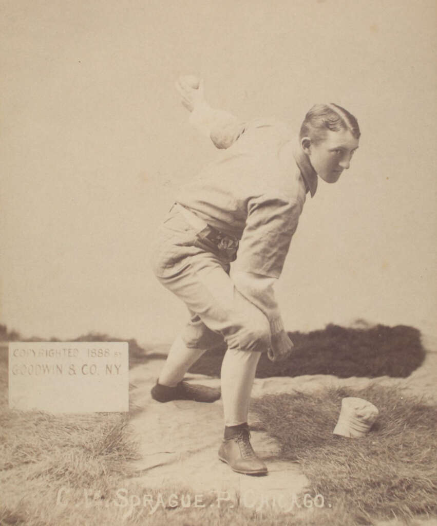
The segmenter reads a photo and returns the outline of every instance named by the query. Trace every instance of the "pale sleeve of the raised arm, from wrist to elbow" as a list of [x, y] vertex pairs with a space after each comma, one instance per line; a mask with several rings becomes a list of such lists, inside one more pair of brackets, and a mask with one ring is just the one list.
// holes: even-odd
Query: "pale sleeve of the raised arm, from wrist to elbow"
[[220, 149], [229, 148], [245, 130], [245, 123], [240, 122], [235, 115], [211, 108], [206, 102], [192, 110], [189, 123]]

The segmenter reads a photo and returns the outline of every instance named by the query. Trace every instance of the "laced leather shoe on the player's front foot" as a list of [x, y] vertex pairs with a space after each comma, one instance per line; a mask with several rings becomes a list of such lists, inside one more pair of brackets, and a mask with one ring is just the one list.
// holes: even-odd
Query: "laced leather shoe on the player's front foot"
[[237, 437], [223, 440], [218, 456], [219, 460], [229, 464], [237, 473], [245, 475], [267, 473], [266, 464], [253, 451], [249, 429], [241, 430]]

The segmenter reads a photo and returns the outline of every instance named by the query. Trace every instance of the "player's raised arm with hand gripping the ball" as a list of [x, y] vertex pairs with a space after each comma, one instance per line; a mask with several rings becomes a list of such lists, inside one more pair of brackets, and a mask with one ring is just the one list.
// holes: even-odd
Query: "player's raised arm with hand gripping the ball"
[[190, 112], [189, 123], [209, 137], [217, 148], [229, 148], [245, 130], [245, 123], [235, 115], [211, 108], [205, 99], [204, 81], [185, 75], [176, 81], [182, 105]]

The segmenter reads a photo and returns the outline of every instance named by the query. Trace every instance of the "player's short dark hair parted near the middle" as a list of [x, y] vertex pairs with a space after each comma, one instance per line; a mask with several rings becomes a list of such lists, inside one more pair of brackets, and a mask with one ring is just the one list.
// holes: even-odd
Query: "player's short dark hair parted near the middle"
[[299, 138], [309, 137], [313, 143], [320, 142], [326, 130], [349, 130], [358, 139], [361, 135], [358, 120], [347, 109], [337, 104], [316, 104], [305, 116]]

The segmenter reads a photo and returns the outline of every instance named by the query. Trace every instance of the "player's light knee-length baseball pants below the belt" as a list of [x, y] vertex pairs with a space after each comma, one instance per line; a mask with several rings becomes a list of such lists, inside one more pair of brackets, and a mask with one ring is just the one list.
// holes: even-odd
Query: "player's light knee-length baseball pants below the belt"
[[159, 281], [185, 302], [190, 312], [182, 339], [189, 348], [267, 352], [267, 317], [233, 284], [229, 258], [206, 247], [176, 207], [172, 207], [151, 245]]

